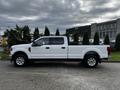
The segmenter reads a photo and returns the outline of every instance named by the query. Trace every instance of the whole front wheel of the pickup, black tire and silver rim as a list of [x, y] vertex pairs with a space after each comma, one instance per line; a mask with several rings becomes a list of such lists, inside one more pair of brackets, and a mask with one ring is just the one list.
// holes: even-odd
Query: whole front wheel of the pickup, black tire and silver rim
[[13, 61], [14, 61], [14, 65], [17, 67], [23, 67], [28, 64], [28, 58], [22, 54], [15, 55]]

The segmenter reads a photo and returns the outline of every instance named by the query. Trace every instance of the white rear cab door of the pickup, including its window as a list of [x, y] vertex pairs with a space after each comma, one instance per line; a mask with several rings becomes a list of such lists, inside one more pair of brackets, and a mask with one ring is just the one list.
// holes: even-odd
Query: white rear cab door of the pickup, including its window
[[50, 58], [66, 59], [67, 46], [64, 43], [63, 37], [49, 38], [49, 56]]

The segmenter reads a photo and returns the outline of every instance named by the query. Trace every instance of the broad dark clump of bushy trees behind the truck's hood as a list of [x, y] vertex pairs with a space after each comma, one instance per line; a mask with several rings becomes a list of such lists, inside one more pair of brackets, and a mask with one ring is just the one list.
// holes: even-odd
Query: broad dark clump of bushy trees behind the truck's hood
[[31, 42], [30, 29], [28, 26], [19, 27], [16, 25], [14, 29], [7, 29], [3, 36], [8, 38], [8, 47]]

